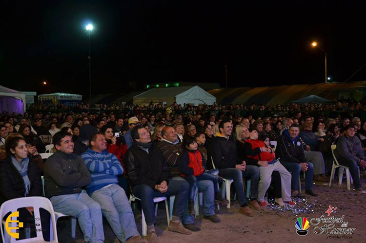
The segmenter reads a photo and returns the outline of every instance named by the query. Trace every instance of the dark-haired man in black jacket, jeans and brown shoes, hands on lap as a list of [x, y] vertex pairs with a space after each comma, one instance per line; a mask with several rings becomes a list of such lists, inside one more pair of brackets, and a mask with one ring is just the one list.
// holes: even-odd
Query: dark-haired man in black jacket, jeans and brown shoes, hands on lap
[[219, 132], [212, 144], [213, 162], [219, 169], [219, 176], [234, 180], [234, 187], [238, 195], [239, 211], [246, 216], [254, 216], [247, 206], [243, 187], [243, 178], [251, 180], [251, 200], [249, 203], [255, 210], [260, 210], [258, 199], [259, 169], [256, 166], [246, 166], [245, 161], [240, 161], [236, 151], [236, 144], [231, 136], [233, 124], [229, 118], [224, 118], [219, 124]]

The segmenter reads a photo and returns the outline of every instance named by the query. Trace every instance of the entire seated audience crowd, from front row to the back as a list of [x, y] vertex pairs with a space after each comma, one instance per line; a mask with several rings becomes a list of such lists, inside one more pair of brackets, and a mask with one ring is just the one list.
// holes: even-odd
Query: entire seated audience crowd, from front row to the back
[[[362, 103], [97, 108], [60, 111], [36, 104], [21, 116], [2, 113], [0, 203], [42, 196], [43, 175], [44, 196], [55, 211], [78, 219], [86, 242], [104, 241], [104, 216], [121, 242], [157, 243], [155, 197], [174, 196], [168, 229], [181, 234], [201, 230], [195, 223], [198, 191], [204, 219], [220, 222], [215, 206], [233, 203], [221, 193], [225, 179], [233, 180], [245, 216], [268, 206], [268, 190], [277, 205], [294, 206], [294, 197], [318, 195], [313, 181], [329, 182], [333, 144], [354, 190], [366, 194], [359, 177], [366, 167]], [[39, 154], [49, 144], [53, 155], [43, 161]], [[146, 240], [136, 228], [131, 193], [141, 200]], [[29, 218], [32, 210], [20, 214]]]

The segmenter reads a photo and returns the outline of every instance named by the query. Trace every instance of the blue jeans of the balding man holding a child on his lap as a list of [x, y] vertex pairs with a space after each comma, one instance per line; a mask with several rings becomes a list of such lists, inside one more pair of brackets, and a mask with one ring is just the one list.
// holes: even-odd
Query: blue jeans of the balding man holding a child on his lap
[[[173, 177], [172, 180], [184, 181], [183, 177]], [[215, 214], [215, 192], [212, 181], [202, 180], [197, 182], [198, 191], [203, 191], [203, 215], [211, 216]], [[174, 201], [175, 202], [175, 201]], [[193, 224], [194, 215], [188, 214], [188, 200], [185, 200], [183, 224]]]

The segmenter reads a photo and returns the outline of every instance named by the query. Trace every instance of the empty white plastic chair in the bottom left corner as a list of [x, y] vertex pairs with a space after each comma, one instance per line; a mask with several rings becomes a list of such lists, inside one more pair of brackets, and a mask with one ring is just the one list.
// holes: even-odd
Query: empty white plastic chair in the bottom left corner
[[[50, 242], [58, 242], [58, 238], [57, 238], [57, 229], [56, 229], [56, 219], [55, 219], [55, 214], [53, 211], [53, 206], [51, 201], [48, 198], [45, 197], [21, 197], [21, 198], [16, 198], [16, 199], [11, 199], [8, 200], [6, 202], [4, 202], [1, 207], [0, 207], [0, 217], [1, 220], [5, 217], [5, 215], [8, 212], [17, 212], [18, 208], [22, 208], [22, 207], [27, 207], [27, 206], [33, 206], [34, 208], [34, 218], [41, 218], [40, 215], [40, 208], [44, 208], [45, 210], [47, 210], [50, 215], [51, 215], [51, 230], [50, 230]], [[17, 226], [17, 222], [16, 220], [12, 220], [10, 225], [12, 228], [18, 228]], [[19, 240], [16, 241], [16, 239], [14, 237], [11, 237], [7, 232], [5, 234], [5, 232], [3, 231], [3, 227], [0, 226], [1, 228], [1, 238], [2, 238], [2, 242], [7, 243], [41, 243], [41, 242], [46, 242], [43, 239], [43, 234], [42, 234], [42, 225], [35, 225], [36, 227], [36, 233], [37, 233], [37, 237], [35, 238], [29, 238], [29, 239], [23, 239], [23, 240]], [[5, 225], [4, 225], [5, 228]], [[13, 233], [13, 232], [12, 232]], [[6, 240], [5, 240], [6, 239]]]

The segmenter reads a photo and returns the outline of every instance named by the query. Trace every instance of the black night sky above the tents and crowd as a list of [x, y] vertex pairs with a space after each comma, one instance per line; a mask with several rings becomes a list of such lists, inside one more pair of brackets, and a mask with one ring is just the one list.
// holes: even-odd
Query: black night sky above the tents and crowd
[[[310, 47], [312, 40], [328, 53], [334, 81], [366, 63], [365, 6], [250, 2], [3, 0], [1, 85], [87, 94], [88, 19], [95, 26], [93, 94], [128, 91], [128, 82], [224, 86], [225, 64], [229, 87], [321, 83], [324, 53]], [[366, 67], [349, 81], [359, 80]]]

